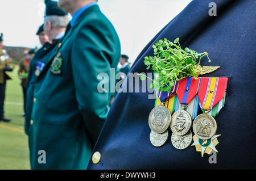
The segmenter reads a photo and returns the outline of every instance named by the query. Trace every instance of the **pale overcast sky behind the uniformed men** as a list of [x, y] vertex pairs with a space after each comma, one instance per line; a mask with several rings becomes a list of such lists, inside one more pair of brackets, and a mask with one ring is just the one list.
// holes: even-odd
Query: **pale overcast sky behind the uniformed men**
[[[101, 11], [113, 23], [122, 53], [133, 62], [144, 46], [191, 0], [99, 0]], [[43, 23], [43, 0], [1, 0], [0, 32], [5, 45], [39, 47], [35, 35]]]

